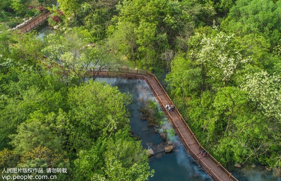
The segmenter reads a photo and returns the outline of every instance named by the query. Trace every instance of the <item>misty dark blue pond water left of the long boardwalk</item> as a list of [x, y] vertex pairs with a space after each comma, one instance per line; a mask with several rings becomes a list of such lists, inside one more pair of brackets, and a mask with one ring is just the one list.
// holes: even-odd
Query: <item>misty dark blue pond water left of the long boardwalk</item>
[[[142, 108], [143, 105], [139, 99], [157, 102], [145, 80], [123, 78], [98, 78], [98, 80], [110, 83], [112, 86], [117, 86], [120, 92], [132, 95], [133, 103], [129, 106], [129, 111], [131, 113], [131, 130], [136, 136], [141, 137], [144, 148], [147, 148], [147, 143], [154, 143], [156, 145], [163, 142], [158, 133], [151, 134], [149, 132], [146, 121], [140, 120], [141, 113], [138, 110]], [[160, 109], [160, 105], [158, 105], [158, 107]], [[165, 126], [171, 128], [168, 123]], [[174, 143], [178, 143], [179, 146], [177, 146], [172, 153], [165, 154], [162, 152], [160, 158], [156, 158], [155, 156], [150, 157], [150, 167], [155, 170], [154, 176], [149, 178], [150, 181], [212, 180], [186, 153], [177, 136], [170, 137], [170, 140]]]

